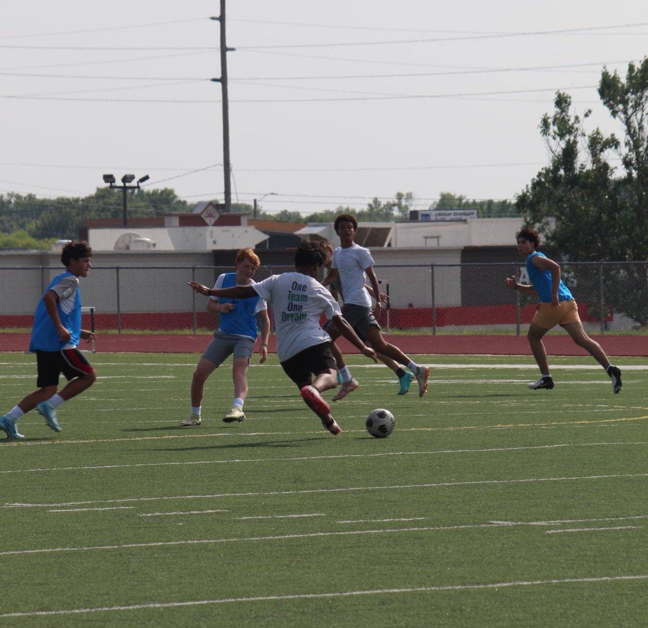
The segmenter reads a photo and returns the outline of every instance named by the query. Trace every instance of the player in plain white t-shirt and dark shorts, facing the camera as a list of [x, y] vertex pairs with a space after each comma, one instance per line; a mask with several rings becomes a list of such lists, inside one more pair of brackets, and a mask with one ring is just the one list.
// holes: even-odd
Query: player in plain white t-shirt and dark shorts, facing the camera
[[[340, 237], [341, 246], [333, 251], [331, 269], [322, 282], [323, 285], [328, 286], [338, 276], [340, 277], [344, 292], [345, 320], [354, 330], [359, 331], [378, 353], [408, 367], [419, 382], [419, 397], [422, 397], [428, 390], [430, 369], [426, 366], [418, 366], [398, 347], [386, 342], [380, 333], [380, 325], [371, 312], [371, 297], [365, 288], [365, 273], [369, 277], [374, 294], [380, 294], [380, 290], [378, 290], [378, 279], [373, 270], [373, 257], [371, 257], [369, 249], [365, 249], [364, 246], [353, 241], [358, 229], [358, 221], [351, 214], [340, 214], [335, 219], [334, 227], [335, 233]], [[378, 298], [375, 305], [376, 312], [379, 312], [381, 307], [382, 303]], [[339, 329], [330, 329], [329, 333], [334, 342], [336, 338], [340, 337]], [[344, 388], [345, 384], [342, 386]], [[343, 390], [340, 391], [340, 393], [342, 392]], [[340, 393], [336, 395], [338, 399], [343, 397]]]

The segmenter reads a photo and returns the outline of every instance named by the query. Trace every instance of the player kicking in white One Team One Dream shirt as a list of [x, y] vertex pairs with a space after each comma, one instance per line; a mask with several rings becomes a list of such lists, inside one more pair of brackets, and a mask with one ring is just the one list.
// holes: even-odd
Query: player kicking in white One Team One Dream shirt
[[[253, 286], [207, 288], [190, 281], [200, 294], [245, 299], [259, 296], [272, 304], [277, 330], [277, 357], [284, 372], [292, 379], [308, 407], [318, 415], [331, 434], [340, 434], [340, 426], [330, 414], [330, 406], [321, 393], [335, 388], [336, 364], [330, 353], [330, 336], [319, 325], [321, 314], [335, 321], [336, 329], [361, 353], [376, 362], [376, 353], [367, 347], [341, 315], [340, 306], [329, 290], [315, 277], [324, 261], [324, 253], [315, 242], [302, 242], [295, 253], [295, 272], [272, 275]], [[315, 380], [312, 380], [315, 375]]]

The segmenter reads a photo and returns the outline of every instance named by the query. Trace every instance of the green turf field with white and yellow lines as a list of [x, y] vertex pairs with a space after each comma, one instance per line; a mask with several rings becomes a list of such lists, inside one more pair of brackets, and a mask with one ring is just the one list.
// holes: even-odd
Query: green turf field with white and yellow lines
[[[590, 358], [529, 391], [529, 356], [419, 356], [419, 399], [351, 356], [334, 437], [275, 356], [244, 423], [228, 361], [181, 428], [197, 359], [93, 355], [60, 434], [32, 412], [0, 440], [0, 628], [645, 625], [648, 360], [615, 360], [614, 395]], [[2, 413], [35, 372], [0, 354]]]

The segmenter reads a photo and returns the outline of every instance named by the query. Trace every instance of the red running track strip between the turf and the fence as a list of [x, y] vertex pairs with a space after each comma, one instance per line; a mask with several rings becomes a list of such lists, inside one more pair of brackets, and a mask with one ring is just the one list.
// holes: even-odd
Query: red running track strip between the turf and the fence
[[[176, 334], [98, 334], [99, 353], [202, 353], [211, 335]], [[526, 336], [384, 336], [404, 353], [531, 355]], [[648, 336], [590, 336], [601, 344], [605, 353], [614, 356], [648, 356]], [[358, 353], [350, 343], [340, 338], [343, 353]], [[83, 344], [83, 343], [82, 343]], [[588, 355], [568, 336], [545, 336], [544, 344], [550, 355]], [[268, 350], [276, 351], [275, 336], [270, 336]], [[258, 346], [258, 345], [257, 345]], [[29, 334], [0, 333], [0, 351], [25, 351]], [[81, 347], [84, 348], [83, 346]]]

